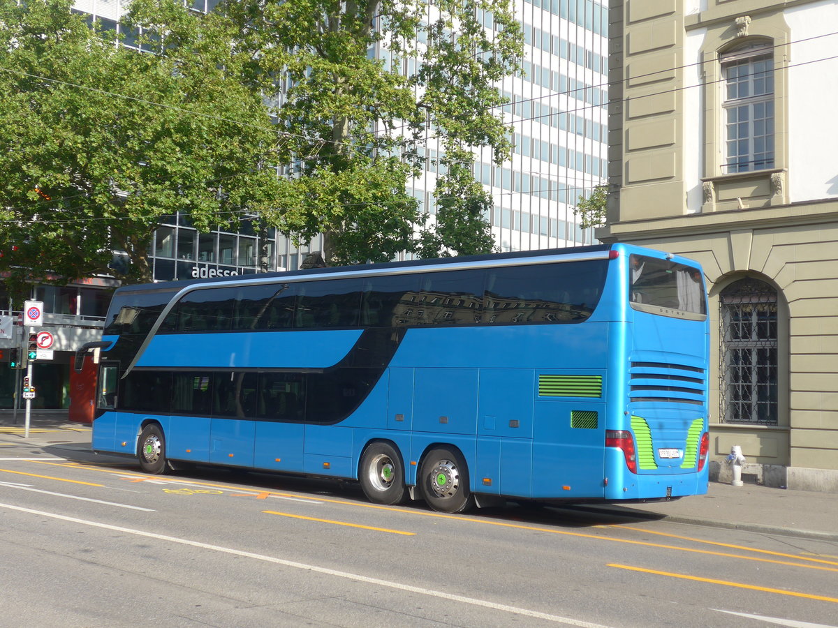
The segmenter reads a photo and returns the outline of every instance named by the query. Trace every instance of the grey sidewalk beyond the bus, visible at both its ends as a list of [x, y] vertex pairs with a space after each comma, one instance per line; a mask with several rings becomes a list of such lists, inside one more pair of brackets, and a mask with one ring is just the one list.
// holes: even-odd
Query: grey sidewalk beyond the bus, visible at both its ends
[[[0, 443], [89, 452], [91, 426], [67, 420], [66, 411], [39, 411], [30, 418], [24, 440], [23, 411], [13, 425], [13, 413], [0, 410]], [[755, 484], [731, 486], [711, 482], [706, 495], [673, 502], [584, 505], [580, 508], [613, 517], [650, 518], [712, 528], [735, 528], [767, 534], [838, 541], [838, 493], [793, 491]]]

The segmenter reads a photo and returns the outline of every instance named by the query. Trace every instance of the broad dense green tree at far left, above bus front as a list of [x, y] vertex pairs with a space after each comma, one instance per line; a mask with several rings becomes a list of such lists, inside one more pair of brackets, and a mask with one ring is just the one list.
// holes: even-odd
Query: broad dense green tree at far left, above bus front
[[[12, 290], [59, 275], [150, 281], [161, 217], [199, 229], [271, 219], [277, 127], [241, 82], [251, 59], [222, 15], [135, 0], [116, 45], [70, 0], [0, 0], [0, 271]], [[13, 246], [17, 247], [12, 253]], [[131, 261], [112, 268], [113, 252]]]

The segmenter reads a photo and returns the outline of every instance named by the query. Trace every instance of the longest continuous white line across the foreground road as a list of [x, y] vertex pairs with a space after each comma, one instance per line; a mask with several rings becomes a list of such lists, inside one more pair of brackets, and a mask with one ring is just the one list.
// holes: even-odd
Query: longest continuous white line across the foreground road
[[401, 584], [391, 580], [380, 580], [377, 578], [370, 578], [360, 574], [351, 574], [346, 571], [337, 571], [336, 569], [327, 569], [325, 567], [318, 567], [313, 564], [297, 563], [292, 560], [277, 559], [273, 556], [266, 556], [261, 553], [245, 552], [241, 549], [224, 548], [220, 545], [210, 545], [209, 543], [200, 543], [199, 541], [192, 541], [189, 538], [169, 537], [165, 534], [156, 534], [152, 532], [143, 532], [142, 530], [134, 530], [132, 528], [122, 528], [120, 526], [111, 526], [108, 523], [101, 523], [96, 521], [87, 521], [85, 519], [78, 519], [76, 517], [67, 517], [59, 515], [54, 512], [42, 512], [39, 510], [32, 510], [30, 508], [23, 508], [19, 506], [12, 506], [10, 504], [0, 503], [0, 507], [8, 508], [9, 510], [16, 510], [18, 512], [28, 512], [41, 517], [51, 517], [53, 519], [60, 519], [61, 521], [69, 521], [73, 523], [80, 523], [85, 526], [93, 526], [94, 528], [103, 528], [105, 530], [113, 530], [115, 532], [122, 532], [127, 534], [135, 534], [139, 537], [156, 538], [159, 541], [168, 541], [169, 543], [179, 543], [181, 545], [190, 545], [194, 548], [211, 549], [215, 552], [229, 553], [234, 556], [243, 556], [248, 559], [263, 560], [266, 563], [281, 564], [285, 567], [292, 567], [293, 569], [305, 569], [313, 571], [318, 574], [326, 574], [335, 576], [337, 578], [344, 578], [354, 580], [355, 582], [363, 582], [365, 584], [375, 584], [376, 586], [388, 587], [390, 589], [399, 589], [401, 591], [408, 591], [409, 593], [416, 593], [418, 595], [428, 595], [430, 597], [440, 598], [442, 600], [451, 600], [453, 602], [460, 602], [462, 604], [469, 604], [473, 606], [482, 606], [487, 609], [501, 610], [506, 613], [515, 615], [522, 615], [525, 617], [533, 617], [535, 619], [553, 621], [557, 624], [566, 624], [577, 626], [578, 628], [608, 628], [601, 624], [592, 624], [589, 621], [574, 620], [570, 617], [561, 617], [559, 615], [550, 615], [549, 613], [541, 613], [538, 610], [522, 609], [517, 606], [510, 606], [505, 604], [497, 604], [489, 602], [488, 600], [478, 600], [477, 598], [469, 598], [463, 595], [453, 595], [443, 591], [435, 591], [433, 589], [424, 589], [422, 587], [415, 587], [411, 584]]

